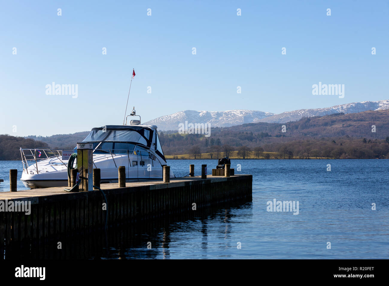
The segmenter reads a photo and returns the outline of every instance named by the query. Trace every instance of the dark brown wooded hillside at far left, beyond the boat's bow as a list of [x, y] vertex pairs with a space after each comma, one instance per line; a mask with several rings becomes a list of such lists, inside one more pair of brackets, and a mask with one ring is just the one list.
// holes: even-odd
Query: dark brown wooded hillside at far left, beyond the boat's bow
[[47, 148], [46, 143], [23, 137], [0, 135], [0, 160], [22, 160], [20, 148]]

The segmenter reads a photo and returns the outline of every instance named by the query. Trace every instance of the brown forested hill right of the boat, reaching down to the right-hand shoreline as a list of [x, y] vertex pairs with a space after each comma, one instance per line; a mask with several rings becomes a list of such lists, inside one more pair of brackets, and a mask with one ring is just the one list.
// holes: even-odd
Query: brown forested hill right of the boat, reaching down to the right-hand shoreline
[[[283, 129], [285, 132], [282, 132]], [[192, 154], [194, 150], [198, 153], [208, 153], [212, 149], [210, 147], [224, 145], [231, 151], [238, 151], [242, 147], [251, 150], [261, 147], [266, 152], [278, 152], [281, 147], [287, 146], [289, 151], [297, 155], [303, 153], [301, 147], [309, 142], [308, 149], [333, 151], [338, 148], [340, 153], [346, 143], [346, 146], [354, 148], [355, 152], [369, 154], [350, 155], [348, 158], [383, 158], [388, 153], [389, 110], [338, 113], [302, 118], [288, 123], [248, 123], [211, 128], [208, 138], [203, 134], [161, 132], [159, 139], [166, 155]], [[287, 142], [290, 144], [286, 144]], [[367, 144], [364, 144], [366, 142]], [[293, 147], [293, 144], [296, 146]]]

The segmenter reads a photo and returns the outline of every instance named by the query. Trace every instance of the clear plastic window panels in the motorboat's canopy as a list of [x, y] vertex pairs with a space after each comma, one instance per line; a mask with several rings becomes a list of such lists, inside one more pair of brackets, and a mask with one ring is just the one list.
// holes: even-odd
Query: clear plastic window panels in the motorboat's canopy
[[[148, 131], [148, 130], [147, 130]], [[96, 129], [92, 130], [89, 135], [82, 140], [83, 142], [91, 141], [124, 141], [124, 142], [138, 142], [147, 146], [147, 141], [140, 135], [139, 132], [134, 130], [104, 130]]]

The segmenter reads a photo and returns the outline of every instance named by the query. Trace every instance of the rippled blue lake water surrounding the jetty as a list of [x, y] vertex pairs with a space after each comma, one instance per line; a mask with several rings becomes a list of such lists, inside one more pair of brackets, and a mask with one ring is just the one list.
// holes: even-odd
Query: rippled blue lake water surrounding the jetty
[[[177, 177], [189, 173], [189, 164], [200, 175], [202, 164], [210, 173], [216, 163], [168, 160]], [[0, 161], [0, 191], [9, 190], [10, 168], [18, 168], [20, 178], [20, 161]], [[389, 160], [231, 160], [231, 168], [253, 175], [252, 201], [205, 216], [110, 230], [106, 245], [88, 249], [86, 257], [389, 258]], [[25, 189], [20, 181], [18, 189]], [[267, 211], [273, 199], [298, 201], [298, 215]]]

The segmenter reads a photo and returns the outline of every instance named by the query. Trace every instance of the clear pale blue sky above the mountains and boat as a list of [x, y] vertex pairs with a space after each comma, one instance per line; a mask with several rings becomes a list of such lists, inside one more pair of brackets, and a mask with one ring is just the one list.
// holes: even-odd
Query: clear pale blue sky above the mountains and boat
[[[0, 133], [121, 125], [132, 68], [128, 106], [143, 122], [388, 99], [388, 30], [388, 1], [2, 1]], [[312, 95], [319, 81], [345, 97]], [[46, 95], [51, 82], [78, 84], [78, 97]]]

